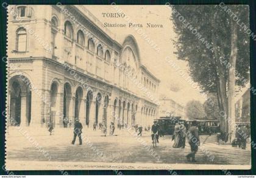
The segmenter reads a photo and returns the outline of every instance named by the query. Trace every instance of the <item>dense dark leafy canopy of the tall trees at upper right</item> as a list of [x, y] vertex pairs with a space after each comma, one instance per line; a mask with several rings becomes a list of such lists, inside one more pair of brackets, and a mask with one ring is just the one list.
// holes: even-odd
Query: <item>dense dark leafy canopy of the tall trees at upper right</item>
[[[227, 7], [239, 16], [240, 23], [244, 22], [249, 27], [247, 5]], [[180, 15], [177, 15], [177, 12]], [[183, 16], [185, 22], [180, 21], [180, 16]], [[178, 58], [188, 60], [191, 77], [200, 84], [202, 91], [216, 92], [216, 80], [219, 80], [216, 60], [219, 58], [217, 59], [218, 56], [213, 52], [213, 40], [216, 41], [221, 64], [225, 69], [223, 75], [227, 81], [233, 18], [219, 5], [172, 5], [172, 19], [178, 35], [175, 43]], [[185, 27], [187, 23], [196, 29], [196, 34], [191, 32], [190, 25]], [[249, 79], [249, 35], [241, 27], [238, 30], [238, 39], [239, 62], [236, 64], [236, 84], [244, 86]]]

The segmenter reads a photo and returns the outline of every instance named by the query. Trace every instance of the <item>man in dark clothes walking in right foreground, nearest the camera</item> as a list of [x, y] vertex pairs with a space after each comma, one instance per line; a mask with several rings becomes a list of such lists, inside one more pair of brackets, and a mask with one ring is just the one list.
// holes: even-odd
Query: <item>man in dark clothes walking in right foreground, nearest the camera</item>
[[192, 121], [190, 129], [188, 129], [188, 143], [190, 144], [191, 152], [187, 154], [187, 160], [189, 162], [196, 162], [196, 152], [198, 150], [198, 146], [200, 145], [199, 131], [196, 120]]

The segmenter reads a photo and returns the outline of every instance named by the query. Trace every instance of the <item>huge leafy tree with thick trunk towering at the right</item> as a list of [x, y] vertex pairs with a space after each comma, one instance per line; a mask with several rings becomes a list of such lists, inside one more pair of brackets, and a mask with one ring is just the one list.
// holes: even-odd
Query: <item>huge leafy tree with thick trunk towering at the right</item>
[[[249, 80], [249, 7], [246, 5], [172, 5], [177, 56], [188, 60], [190, 74], [202, 92], [215, 93], [221, 132], [233, 131], [234, 87]], [[227, 13], [240, 19], [243, 28]], [[182, 18], [181, 18], [182, 16]], [[239, 60], [239, 63], [237, 62]], [[234, 69], [234, 70], [233, 70]]]

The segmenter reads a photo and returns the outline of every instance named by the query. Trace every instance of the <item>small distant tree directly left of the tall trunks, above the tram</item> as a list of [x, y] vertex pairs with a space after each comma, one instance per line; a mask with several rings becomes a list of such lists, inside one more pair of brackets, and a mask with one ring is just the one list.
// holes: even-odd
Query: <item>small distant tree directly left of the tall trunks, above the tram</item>
[[219, 104], [215, 94], [209, 94], [208, 99], [204, 102], [203, 106], [207, 118], [219, 118]]

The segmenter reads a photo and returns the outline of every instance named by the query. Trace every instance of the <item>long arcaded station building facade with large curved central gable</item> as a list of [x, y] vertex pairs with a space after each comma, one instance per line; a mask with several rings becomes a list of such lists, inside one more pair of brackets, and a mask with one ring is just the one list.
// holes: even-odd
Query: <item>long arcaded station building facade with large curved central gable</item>
[[10, 125], [148, 126], [157, 117], [160, 80], [132, 35], [119, 43], [81, 5], [10, 5], [8, 23]]

